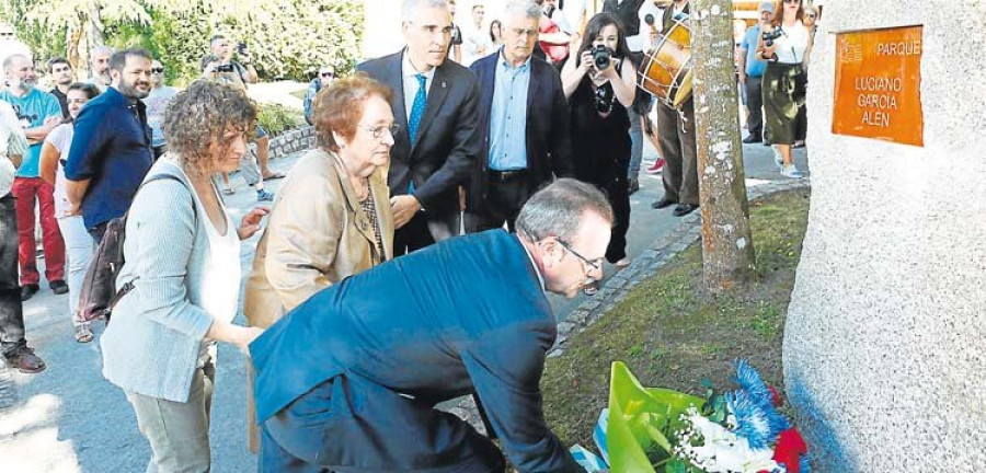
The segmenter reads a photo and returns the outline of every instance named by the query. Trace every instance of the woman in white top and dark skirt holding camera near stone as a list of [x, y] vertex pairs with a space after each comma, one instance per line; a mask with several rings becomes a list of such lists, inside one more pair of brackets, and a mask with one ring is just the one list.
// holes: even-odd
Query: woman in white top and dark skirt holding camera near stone
[[801, 0], [778, 2], [773, 21], [764, 27], [757, 43], [757, 58], [767, 61], [764, 72], [764, 122], [773, 146], [775, 161], [786, 177], [801, 177], [791, 157], [798, 135], [798, 111], [804, 104], [812, 37], [804, 27]]

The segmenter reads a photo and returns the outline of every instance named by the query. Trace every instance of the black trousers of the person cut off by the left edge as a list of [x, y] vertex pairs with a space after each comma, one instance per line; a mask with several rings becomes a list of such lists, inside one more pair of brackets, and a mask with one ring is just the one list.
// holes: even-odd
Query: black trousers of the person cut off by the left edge
[[7, 356], [26, 345], [18, 278], [18, 217], [14, 198], [7, 194], [0, 197], [0, 347]]

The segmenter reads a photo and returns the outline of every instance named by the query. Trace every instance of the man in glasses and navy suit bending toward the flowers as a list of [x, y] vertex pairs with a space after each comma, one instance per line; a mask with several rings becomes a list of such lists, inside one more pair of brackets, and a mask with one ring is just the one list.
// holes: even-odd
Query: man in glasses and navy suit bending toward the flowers
[[546, 291], [600, 278], [612, 210], [562, 178], [491, 230], [318, 292], [253, 344], [261, 472], [503, 472], [469, 424], [434, 406], [474, 394], [520, 472], [582, 472], [541, 412], [554, 344]]

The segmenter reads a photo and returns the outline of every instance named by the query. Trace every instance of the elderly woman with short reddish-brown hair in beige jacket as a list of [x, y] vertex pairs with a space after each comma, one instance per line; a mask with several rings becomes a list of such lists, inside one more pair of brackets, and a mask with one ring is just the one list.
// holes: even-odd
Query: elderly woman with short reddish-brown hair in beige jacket
[[[365, 74], [319, 92], [318, 147], [298, 160], [277, 195], [246, 282], [251, 326], [265, 328], [316, 292], [392, 257], [387, 170], [397, 125], [389, 100], [390, 90]], [[252, 395], [248, 409], [256, 451]]]

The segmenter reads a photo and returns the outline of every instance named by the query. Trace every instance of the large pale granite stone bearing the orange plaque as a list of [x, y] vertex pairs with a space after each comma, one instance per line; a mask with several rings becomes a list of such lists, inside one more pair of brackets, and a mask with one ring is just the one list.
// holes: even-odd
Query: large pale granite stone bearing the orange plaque
[[815, 471], [984, 471], [986, 1], [826, 7], [789, 400]]

